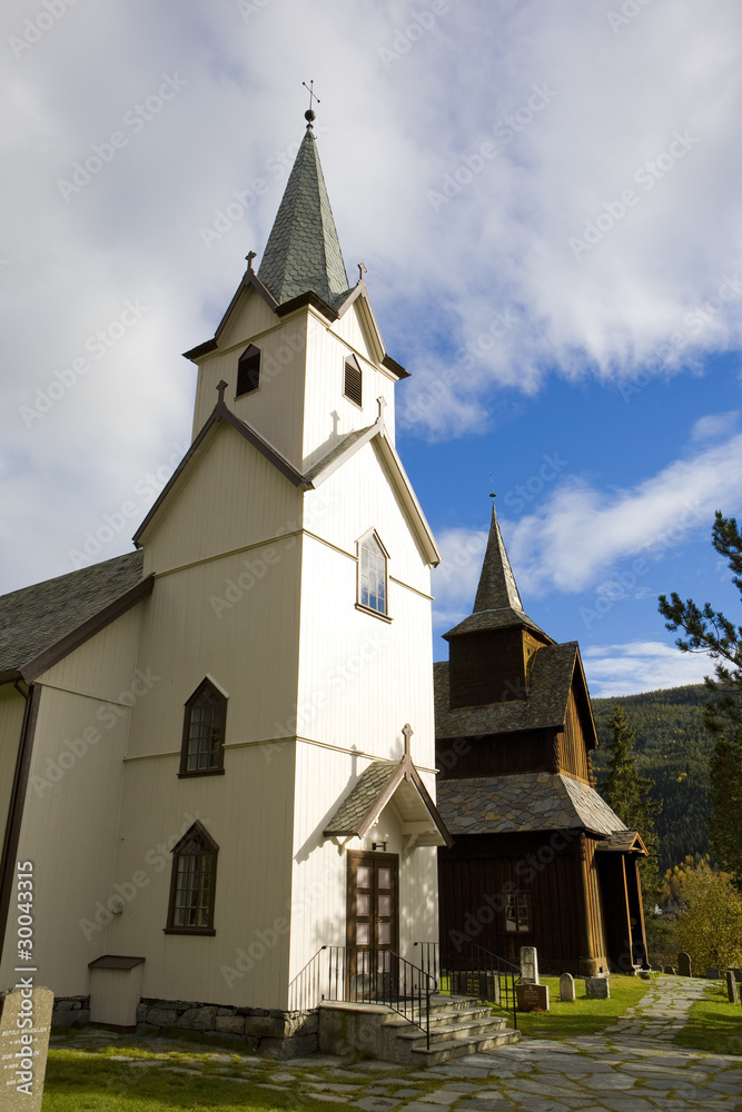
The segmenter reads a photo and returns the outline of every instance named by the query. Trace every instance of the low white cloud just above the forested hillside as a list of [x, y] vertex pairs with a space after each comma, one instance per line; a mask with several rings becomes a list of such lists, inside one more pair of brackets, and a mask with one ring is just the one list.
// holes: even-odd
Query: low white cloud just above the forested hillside
[[593, 645], [582, 653], [593, 698], [637, 695], [703, 683], [714, 662], [705, 654], [681, 653], [662, 642]]

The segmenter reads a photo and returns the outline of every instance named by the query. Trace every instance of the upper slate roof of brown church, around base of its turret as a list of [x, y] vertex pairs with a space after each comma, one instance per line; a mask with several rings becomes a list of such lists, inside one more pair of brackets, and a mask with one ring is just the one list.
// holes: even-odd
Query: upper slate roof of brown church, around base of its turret
[[482, 737], [518, 729], [562, 728], [577, 661], [577, 642], [536, 649], [528, 695], [524, 699], [451, 709], [448, 662], [433, 665], [435, 735]]

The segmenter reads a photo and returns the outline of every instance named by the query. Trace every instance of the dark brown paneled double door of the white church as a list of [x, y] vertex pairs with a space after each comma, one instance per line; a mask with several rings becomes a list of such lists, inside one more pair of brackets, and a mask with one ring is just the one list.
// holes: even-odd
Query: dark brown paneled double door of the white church
[[399, 862], [388, 853], [348, 853], [348, 993], [373, 1000], [394, 991], [399, 945]]

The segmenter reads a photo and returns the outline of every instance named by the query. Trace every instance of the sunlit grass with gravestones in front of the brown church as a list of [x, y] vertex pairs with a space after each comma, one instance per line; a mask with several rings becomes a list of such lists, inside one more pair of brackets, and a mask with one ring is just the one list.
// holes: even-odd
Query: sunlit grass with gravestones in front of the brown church
[[[518, 1031], [534, 1039], [574, 1039], [576, 1035], [594, 1035], [615, 1023], [627, 1007], [633, 1007], [650, 990], [651, 983], [639, 976], [611, 976], [610, 1000], [587, 1000], [585, 982], [575, 979], [576, 1000], [562, 1003], [560, 979], [542, 976], [541, 983], [548, 985], [547, 1012], [518, 1012]], [[495, 1015], [503, 1013], [497, 1009]], [[508, 1020], [513, 1026], [513, 1016]]]

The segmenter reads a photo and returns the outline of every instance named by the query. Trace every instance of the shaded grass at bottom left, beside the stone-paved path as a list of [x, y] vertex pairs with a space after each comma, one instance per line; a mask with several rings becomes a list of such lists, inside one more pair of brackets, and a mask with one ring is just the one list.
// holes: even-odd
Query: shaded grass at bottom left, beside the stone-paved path
[[[116, 1055], [152, 1064], [117, 1062]], [[156, 1062], [198, 1070], [202, 1075], [170, 1072], [154, 1064]], [[234, 1079], [217, 1074], [218, 1068], [230, 1071]], [[270, 1074], [281, 1069], [279, 1062], [264, 1060], [246, 1066], [240, 1064], [238, 1055], [235, 1055], [234, 1068], [225, 1063], [217, 1066], [201, 1048], [162, 1052], [142, 1049], [136, 1037], [90, 1050], [62, 1044], [49, 1049], [41, 1108], [42, 1112], [188, 1112], [200, 1109], [208, 1112], [276, 1112], [284, 1109], [337, 1112], [337, 1104], [306, 1096], [296, 1089], [278, 1092], [257, 1088], [257, 1082], [269, 1082]], [[243, 1080], [235, 1080], [238, 1076]]]

